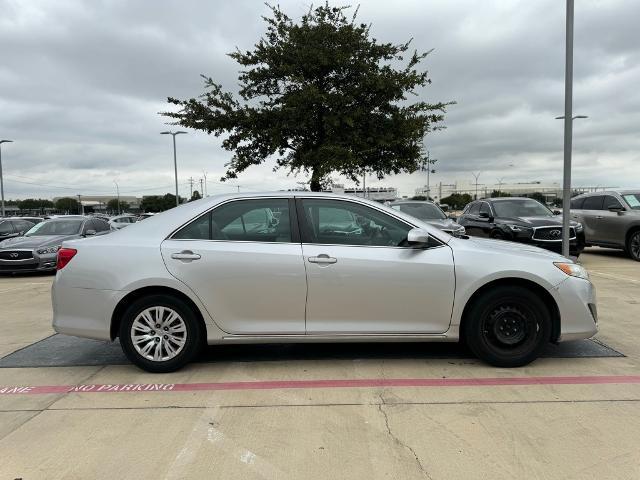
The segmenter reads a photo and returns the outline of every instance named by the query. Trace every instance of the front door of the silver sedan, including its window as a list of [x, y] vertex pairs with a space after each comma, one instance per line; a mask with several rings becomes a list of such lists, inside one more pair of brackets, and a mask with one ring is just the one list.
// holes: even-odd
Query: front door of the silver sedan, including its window
[[443, 333], [455, 290], [451, 249], [407, 245], [411, 225], [349, 200], [302, 198], [307, 334]]

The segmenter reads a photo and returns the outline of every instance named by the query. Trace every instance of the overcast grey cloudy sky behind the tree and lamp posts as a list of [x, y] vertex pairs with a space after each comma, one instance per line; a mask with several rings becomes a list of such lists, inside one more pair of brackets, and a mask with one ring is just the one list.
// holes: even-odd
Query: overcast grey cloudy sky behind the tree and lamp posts
[[[330, 2], [343, 5], [343, 2]], [[281, 1], [299, 18], [309, 2]], [[414, 38], [431, 101], [455, 100], [430, 134], [432, 182], [562, 182], [565, 11], [561, 0], [363, 0], [359, 19], [381, 41]], [[167, 96], [202, 93], [199, 74], [237, 88], [225, 54], [264, 31], [261, 1], [0, 0], [0, 138], [7, 198], [172, 191]], [[577, 0], [574, 54], [576, 186], [640, 186], [640, 2]], [[209, 193], [292, 188], [306, 178], [253, 167], [219, 178], [230, 153], [198, 132], [179, 136], [181, 194], [207, 171]], [[511, 166], [512, 165], [512, 166]], [[424, 175], [369, 185], [412, 194]], [[198, 188], [199, 189], [199, 188]]]

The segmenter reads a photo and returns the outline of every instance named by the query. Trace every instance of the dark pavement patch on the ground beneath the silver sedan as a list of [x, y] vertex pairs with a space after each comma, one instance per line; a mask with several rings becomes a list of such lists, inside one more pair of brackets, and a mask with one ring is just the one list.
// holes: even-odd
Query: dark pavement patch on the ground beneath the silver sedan
[[[598, 340], [549, 345], [547, 358], [624, 357]], [[472, 358], [456, 343], [308, 343], [276, 345], [218, 345], [208, 347], [198, 362], [268, 362], [323, 359], [435, 359]], [[0, 368], [75, 367], [129, 363], [120, 344], [66, 335], [52, 335], [0, 359]]]

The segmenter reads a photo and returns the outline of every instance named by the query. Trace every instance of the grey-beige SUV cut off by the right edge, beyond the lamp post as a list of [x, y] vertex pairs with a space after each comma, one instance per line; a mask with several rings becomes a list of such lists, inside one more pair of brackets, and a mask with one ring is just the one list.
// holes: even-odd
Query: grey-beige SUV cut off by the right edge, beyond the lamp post
[[571, 199], [587, 246], [619, 248], [640, 262], [640, 190], [585, 193]]

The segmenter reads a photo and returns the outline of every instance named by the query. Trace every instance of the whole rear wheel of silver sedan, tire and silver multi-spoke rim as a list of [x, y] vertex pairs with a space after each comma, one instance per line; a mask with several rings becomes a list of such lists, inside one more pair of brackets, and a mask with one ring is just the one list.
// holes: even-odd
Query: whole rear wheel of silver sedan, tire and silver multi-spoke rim
[[133, 302], [122, 316], [119, 336], [131, 363], [151, 373], [182, 368], [204, 345], [203, 327], [195, 312], [167, 295], [149, 295]]

